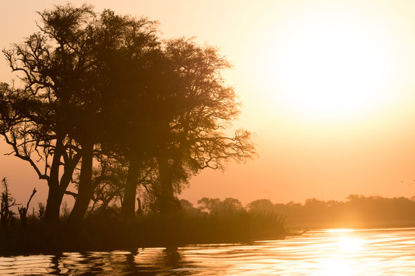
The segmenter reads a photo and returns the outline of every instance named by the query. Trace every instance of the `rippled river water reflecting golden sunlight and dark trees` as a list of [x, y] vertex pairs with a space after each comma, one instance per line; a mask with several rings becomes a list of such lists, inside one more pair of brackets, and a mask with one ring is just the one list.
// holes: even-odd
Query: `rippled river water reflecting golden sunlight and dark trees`
[[0, 275], [415, 275], [415, 228], [315, 230], [250, 244], [0, 257]]

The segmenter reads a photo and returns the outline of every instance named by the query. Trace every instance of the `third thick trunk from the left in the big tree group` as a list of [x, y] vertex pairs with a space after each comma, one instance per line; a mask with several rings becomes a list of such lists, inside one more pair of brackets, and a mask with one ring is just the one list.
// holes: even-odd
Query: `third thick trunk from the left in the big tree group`
[[132, 158], [128, 168], [127, 182], [121, 206], [122, 215], [125, 219], [131, 219], [135, 215], [139, 166], [140, 162], [136, 158]]

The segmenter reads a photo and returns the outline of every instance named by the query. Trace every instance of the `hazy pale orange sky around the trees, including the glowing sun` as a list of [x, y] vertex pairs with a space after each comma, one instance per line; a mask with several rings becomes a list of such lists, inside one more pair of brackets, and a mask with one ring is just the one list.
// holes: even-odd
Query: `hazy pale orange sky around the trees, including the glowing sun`
[[[59, 3], [2, 1], [0, 48], [23, 41], [35, 12]], [[256, 132], [259, 157], [201, 172], [181, 197], [415, 195], [414, 1], [86, 3], [158, 20], [163, 37], [195, 36], [234, 65], [225, 72], [243, 102], [234, 128]], [[0, 61], [0, 81], [12, 77]], [[0, 156], [3, 176], [18, 201], [34, 186], [46, 200], [46, 182], [26, 162]]]

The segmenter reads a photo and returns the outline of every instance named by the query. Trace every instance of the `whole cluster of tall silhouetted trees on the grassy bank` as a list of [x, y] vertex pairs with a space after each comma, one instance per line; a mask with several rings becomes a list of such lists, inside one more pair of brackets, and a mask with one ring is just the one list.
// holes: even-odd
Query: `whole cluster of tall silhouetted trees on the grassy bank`
[[38, 32], [3, 50], [21, 81], [0, 84], [0, 134], [47, 182], [44, 221], [59, 220], [64, 195], [75, 198], [71, 224], [91, 201], [120, 201], [133, 217], [138, 188], [173, 213], [193, 175], [255, 153], [250, 132], [227, 130], [239, 102], [216, 48], [86, 5], [39, 16]]

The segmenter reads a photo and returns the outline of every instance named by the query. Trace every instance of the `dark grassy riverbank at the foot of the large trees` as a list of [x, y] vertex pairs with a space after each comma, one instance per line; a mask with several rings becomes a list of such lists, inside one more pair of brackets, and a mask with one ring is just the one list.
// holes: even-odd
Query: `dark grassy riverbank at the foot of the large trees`
[[65, 222], [43, 224], [31, 219], [0, 228], [0, 253], [56, 253], [74, 251], [131, 250], [185, 244], [219, 244], [282, 239], [290, 235], [284, 217], [275, 214], [234, 213], [169, 217], [143, 215], [130, 221], [103, 214], [74, 228]]

